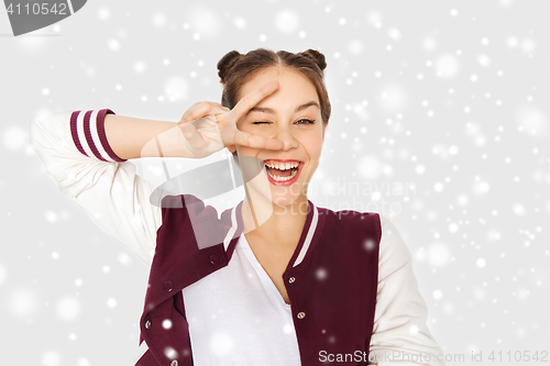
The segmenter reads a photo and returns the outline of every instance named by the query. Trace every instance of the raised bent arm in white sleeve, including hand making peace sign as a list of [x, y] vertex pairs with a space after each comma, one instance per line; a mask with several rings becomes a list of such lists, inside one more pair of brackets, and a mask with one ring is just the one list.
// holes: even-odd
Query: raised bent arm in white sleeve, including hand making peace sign
[[[33, 118], [31, 142], [62, 192], [107, 233], [151, 263], [166, 192], [135, 173], [138, 157], [206, 157], [226, 146], [280, 149], [282, 141], [237, 129], [249, 109], [278, 88], [270, 81], [232, 110], [195, 103], [177, 123], [114, 115], [111, 110]], [[153, 192], [157, 193], [152, 197]]]

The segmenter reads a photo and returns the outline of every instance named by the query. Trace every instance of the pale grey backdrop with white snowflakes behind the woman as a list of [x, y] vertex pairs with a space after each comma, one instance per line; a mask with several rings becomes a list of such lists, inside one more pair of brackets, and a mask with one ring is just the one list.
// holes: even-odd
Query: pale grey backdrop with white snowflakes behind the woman
[[[309, 198], [393, 218], [430, 330], [465, 357], [448, 364], [547, 364], [514, 357], [550, 351], [548, 8], [95, 0], [20, 37], [0, 11], [0, 364], [131, 365], [148, 275], [45, 174], [31, 118], [110, 108], [178, 121], [194, 102], [220, 100], [227, 52], [262, 46], [327, 56], [333, 112]], [[133, 162], [165, 180], [158, 162]], [[223, 196], [211, 204], [243, 190]]]

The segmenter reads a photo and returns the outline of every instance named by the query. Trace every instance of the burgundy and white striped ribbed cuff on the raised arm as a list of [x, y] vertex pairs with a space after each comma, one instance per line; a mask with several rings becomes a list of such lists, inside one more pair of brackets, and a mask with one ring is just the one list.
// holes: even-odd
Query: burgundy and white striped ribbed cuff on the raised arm
[[70, 115], [70, 134], [76, 148], [88, 157], [103, 162], [125, 162], [114, 154], [105, 133], [105, 118], [110, 109], [75, 111]]

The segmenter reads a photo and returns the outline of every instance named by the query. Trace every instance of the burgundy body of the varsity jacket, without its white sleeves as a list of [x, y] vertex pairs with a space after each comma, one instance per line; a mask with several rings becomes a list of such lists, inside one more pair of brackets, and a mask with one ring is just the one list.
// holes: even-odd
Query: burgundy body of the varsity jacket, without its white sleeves
[[[242, 203], [219, 217], [193, 195], [163, 198], [140, 322], [140, 343], [145, 341], [148, 350], [136, 366], [194, 365], [182, 289], [228, 265], [243, 230]], [[308, 232], [312, 237], [306, 237]], [[328, 364], [320, 362], [321, 351], [361, 352], [364, 361], [339, 364], [369, 364], [381, 237], [377, 213], [332, 211], [308, 200], [298, 246], [283, 274], [301, 365]], [[306, 241], [306, 255], [294, 265]], [[319, 269], [326, 276], [318, 276]], [[172, 326], [163, 326], [165, 320]]]

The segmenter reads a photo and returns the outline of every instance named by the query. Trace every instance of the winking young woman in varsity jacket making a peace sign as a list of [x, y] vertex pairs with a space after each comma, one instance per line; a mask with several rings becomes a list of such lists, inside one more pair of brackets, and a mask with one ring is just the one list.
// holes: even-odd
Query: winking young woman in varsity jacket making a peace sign
[[[331, 111], [326, 66], [314, 49], [232, 51], [218, 63], [221, 104], [177, 123], [108, 109], [33, 119], [62, 191], [151, 264], [136, 365], [444, 365], [392, 222], [307, 198]], [[221, 214], [157, 195], [128, 162], [222, 148], [245, 197]]]

